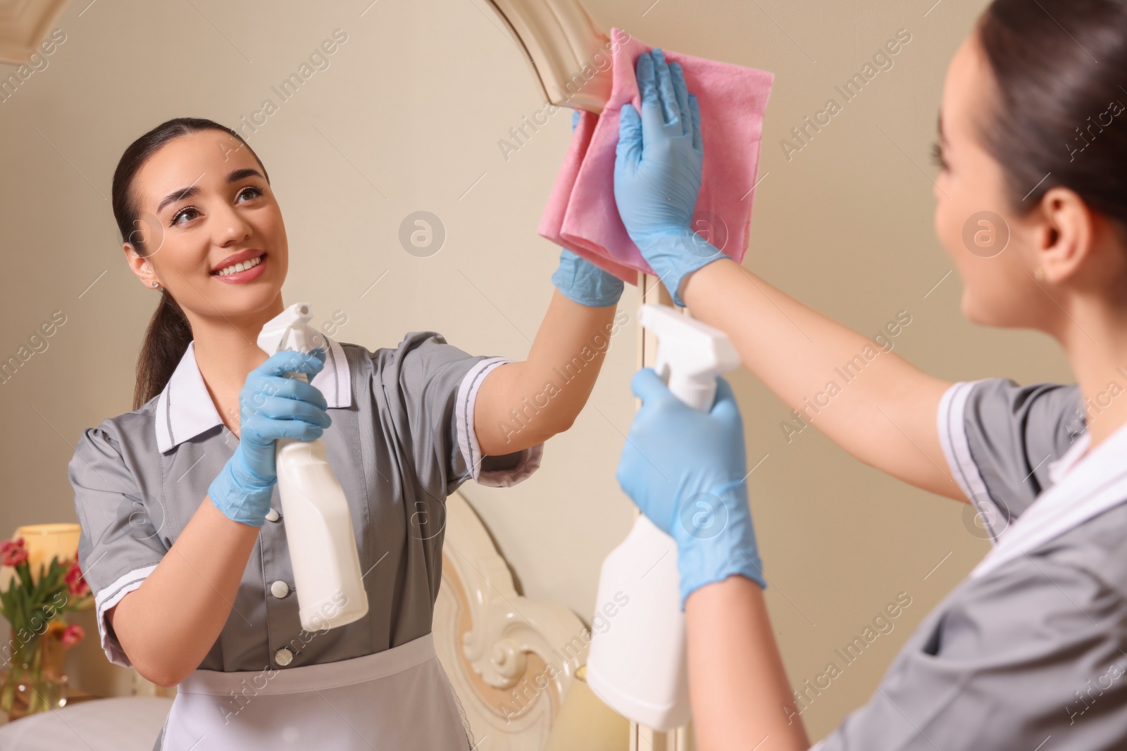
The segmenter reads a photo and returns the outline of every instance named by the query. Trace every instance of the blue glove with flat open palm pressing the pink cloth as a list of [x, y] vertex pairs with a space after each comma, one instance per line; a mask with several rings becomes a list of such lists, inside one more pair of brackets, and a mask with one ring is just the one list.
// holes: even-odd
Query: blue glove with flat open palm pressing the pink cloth
[[641, 116], [622, 105], [614, 159], [614, 202], [627, 233], [677, 305], [681, 283], [724, 258], [692, 230], [704, 144], [701, 110], [678, 63], [659, 48], [638, 55]]

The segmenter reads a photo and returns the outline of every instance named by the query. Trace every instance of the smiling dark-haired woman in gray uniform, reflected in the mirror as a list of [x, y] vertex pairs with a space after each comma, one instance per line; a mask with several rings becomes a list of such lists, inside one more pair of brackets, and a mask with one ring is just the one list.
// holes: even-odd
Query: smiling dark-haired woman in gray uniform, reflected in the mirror
[[[622, 283], [565, 251], [523, 363], [433, 332], [267, 358], [256, 340], [285, 306], [289, 247], [266, 168], [234, 131], [157, 126], [125, 150], [113, 207], [159, 303], [135, 409], [83, 431], [70, 477], [107, 656], [179, 685], [156, 748], [469, 749], [431, 637], [445, 499], [539, 466], [591, 393]], [[369, 613], [309, 633], [274, 441], [317, 437], [352, 510]]]

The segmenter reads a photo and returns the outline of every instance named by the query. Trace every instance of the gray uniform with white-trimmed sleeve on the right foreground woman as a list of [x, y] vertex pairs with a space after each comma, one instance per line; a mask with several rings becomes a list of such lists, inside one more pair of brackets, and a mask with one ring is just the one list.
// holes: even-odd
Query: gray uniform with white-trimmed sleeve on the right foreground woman
[[1075, 385], [1001, 378], [938, 420], [995, 546], [815, 749], [1127, 748], [1127, 428], [1085, 456]]

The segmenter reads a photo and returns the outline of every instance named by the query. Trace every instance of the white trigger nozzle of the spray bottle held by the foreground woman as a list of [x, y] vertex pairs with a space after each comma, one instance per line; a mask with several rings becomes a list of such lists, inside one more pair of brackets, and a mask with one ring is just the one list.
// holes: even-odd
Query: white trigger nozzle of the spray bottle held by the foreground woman
[[660, 342], [654, 369], [673, 395], [701, 412], [712, 409], [716, 377], [739, 365], [728, 336], [667, 305], [642, 305], [638, 321]]

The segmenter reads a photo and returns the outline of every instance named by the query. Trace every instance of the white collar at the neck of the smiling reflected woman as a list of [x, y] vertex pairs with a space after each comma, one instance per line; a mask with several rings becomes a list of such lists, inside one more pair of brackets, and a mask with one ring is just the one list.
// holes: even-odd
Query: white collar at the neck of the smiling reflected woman
[[[352, 406], [352, 374], [345, 350], [336, 340], [325, 339], [329, 343], [328, 359], [321, 372], [313, 376], [312, 384], [325, 394], [329, 406]], [[195, 342], [189, 341], [188, 349], [157, 401], [157, 447], [163, 454], [222, 422], [199, 375]]]

